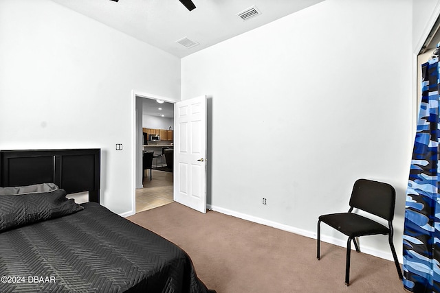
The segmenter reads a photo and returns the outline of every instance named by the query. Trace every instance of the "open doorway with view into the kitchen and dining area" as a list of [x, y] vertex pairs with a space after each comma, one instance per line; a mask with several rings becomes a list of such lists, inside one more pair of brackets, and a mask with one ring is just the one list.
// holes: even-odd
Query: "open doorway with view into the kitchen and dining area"
[[174, 104], [149, 95], [136, 95], [135, 109], [134, 211], [139, 213], [173, 202]]

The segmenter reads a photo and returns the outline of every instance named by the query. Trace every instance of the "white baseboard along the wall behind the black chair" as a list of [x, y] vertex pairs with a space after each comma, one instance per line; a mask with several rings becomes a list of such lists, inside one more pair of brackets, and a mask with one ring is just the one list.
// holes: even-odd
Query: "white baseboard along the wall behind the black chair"
[[[216, 207], [213, 206], [211, 204], [207, 204], [208, 209], [212, 210], [212, 211], [218, 211], [219, 213], [224, 213], [225, 215], [232, 215], [233, 217], [236, 218], [240, 218], [243, 220], [248, 220], [250, 222], [254, 222], [257, 224], [263, 224], [265, 226], [270, 226], [270, 227], [274, 227], [274, 228], [278, 228], [280, 230], [283, 231], [287, 231], [287, 232], [291, 232], [291, 233], [295, 233], [301, 236], [305, 236], [305, 237], [309, 237], [309, 238], [313, 238], [316, 239], [316, 231], [307, 231], [304, 229], [300, 229], [300, 228], [296, 228], [294, 226], [289, 226], [289, 225], [285, 225], [285, 224], [281, 224], [278, 222], [274, 222], [274, 221], [270, 221], [270, 220], [266, 220], [263, 218], [259, 218], [259, 217], [255, 217], [253, 215], [247, 215], [245, 213], [239, 213], [237, 211], [232, 211], [230, 209], [223, 209], [222, 207]], [[318, 219], [316, 220], [316, 223], [318, 223]], [[362, 240], [362, 239], [361, 239]], [[386, 242], [388, 242], [388, 239], [384, 239]], [[322, 242], [327, 242], [329, 244], [333, 244], [333, 245], [337, 245], [337, 246], [342, 246], [342, 247], [347, 247], [347, 240], [342, 240], [342, 239], [337, 239], [335, 237], [331, 237], [331, 236], [327, 236], [327, 235], [322, 235], [321, 234], [321, 241]], [[352, 245], [352, 249], [354, 249], [353, 247], [354, 245]], [[371, 248], [368, 246], [362, 246], [361, 248], [362, 253], [366, 253], [368, 255], [373, 255], [375, 257], [380, 257], [381, 259], [387, 259], [388, 261], [394, 261], [393, 259], [393, 254], [391, 253], [391, 251], [384, 252], [382, 250], [377, 250], [375, 248]], [[403, 263], [403, 257], [401, 255], [397, 255], [397, 259], [399, 259], [399, 263]]]

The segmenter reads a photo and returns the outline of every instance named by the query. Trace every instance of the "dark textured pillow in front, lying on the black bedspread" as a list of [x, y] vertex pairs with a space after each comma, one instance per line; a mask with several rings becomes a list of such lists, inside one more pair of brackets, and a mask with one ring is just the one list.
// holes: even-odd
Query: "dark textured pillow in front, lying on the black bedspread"
[[66, 198], [64, 189], [36, 194], [0, 196], [0, 232], [58, 218], [84, 209]]

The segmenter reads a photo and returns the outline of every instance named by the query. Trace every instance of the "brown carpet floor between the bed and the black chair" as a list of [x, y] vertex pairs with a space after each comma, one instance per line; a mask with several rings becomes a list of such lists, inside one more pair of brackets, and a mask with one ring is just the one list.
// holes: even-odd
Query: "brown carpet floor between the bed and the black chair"
[[353, 250], [347, 287], [345, 248], [322, 242], [318, 261], [315, 239], [215, 211], [173, 202], [128, 219], [183, 248], [199, 279], [217, 293], [407, 292], [392, 261]]

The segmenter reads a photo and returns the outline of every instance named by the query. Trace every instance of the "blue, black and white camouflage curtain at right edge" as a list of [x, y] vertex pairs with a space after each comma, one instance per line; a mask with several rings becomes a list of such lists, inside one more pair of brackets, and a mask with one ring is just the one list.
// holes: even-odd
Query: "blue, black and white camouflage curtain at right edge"
[[404, 226], [404, 287], [440, 292], [439, 61], [422, 65], [422, 97]]

